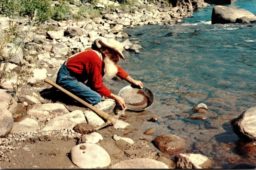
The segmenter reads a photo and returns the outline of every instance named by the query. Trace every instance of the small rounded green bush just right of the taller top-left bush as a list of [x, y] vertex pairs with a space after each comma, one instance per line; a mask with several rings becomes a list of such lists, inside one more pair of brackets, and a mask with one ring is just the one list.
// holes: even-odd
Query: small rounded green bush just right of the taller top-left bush
[[70, 14], [70, 9], [68, 7], [68, 5], [66, 4], [55, 4], [54, 8], [53, 8], [53, 15], [52, 15], [52, 19], [54, 20], [63, 20], [66, 19], [67, 16]]

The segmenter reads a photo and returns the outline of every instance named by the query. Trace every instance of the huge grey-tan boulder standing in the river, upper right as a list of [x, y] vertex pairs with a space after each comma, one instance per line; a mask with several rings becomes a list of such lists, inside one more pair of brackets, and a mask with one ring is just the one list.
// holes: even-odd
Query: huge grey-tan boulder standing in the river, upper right
[[244, 9], [217, 5], [212, 9], [212, 24], [255, 22], [256, 16]]

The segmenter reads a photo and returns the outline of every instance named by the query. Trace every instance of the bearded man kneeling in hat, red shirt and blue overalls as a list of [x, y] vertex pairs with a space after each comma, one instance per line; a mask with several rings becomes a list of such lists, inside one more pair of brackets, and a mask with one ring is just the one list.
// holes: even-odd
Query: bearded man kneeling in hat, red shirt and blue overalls
[[124, 47], [120, 42], [114, 39], [96, 39], [93, 45], [92, 49], [76, 53], [64, 62], [56, 83], [87, 103], [97, 104], [102, 97], [109, 97], [124, 109], [124, 99], [113, 94], [103, 84], [102, 77], [113, 78], [117, 75], [138, 88], [143, 88], [143, 84], [116, 65], [119, 58], [125, 60], [122, 53]]

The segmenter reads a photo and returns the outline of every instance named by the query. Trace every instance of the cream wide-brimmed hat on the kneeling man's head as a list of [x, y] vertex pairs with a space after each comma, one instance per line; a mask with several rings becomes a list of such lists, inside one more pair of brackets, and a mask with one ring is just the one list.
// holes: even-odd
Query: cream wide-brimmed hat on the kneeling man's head
[[116, 41], [115, 39], [95, 39], [94, 44], [98, 48], [105, 46], [116, 51], [120, 55], [120, 57], [124, 59], [124, 61], [126, 61], [124, 58], [124, 54], [122, 53], [122, 51], [124, 50], [124, 45]]

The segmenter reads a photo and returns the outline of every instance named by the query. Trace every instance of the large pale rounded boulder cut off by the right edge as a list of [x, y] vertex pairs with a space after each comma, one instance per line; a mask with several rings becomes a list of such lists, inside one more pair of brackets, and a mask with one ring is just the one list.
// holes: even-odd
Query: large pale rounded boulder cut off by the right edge
[[240, 138], [256, 139], [256, 107], [244, 111], [231, 122], [234, 132]]

